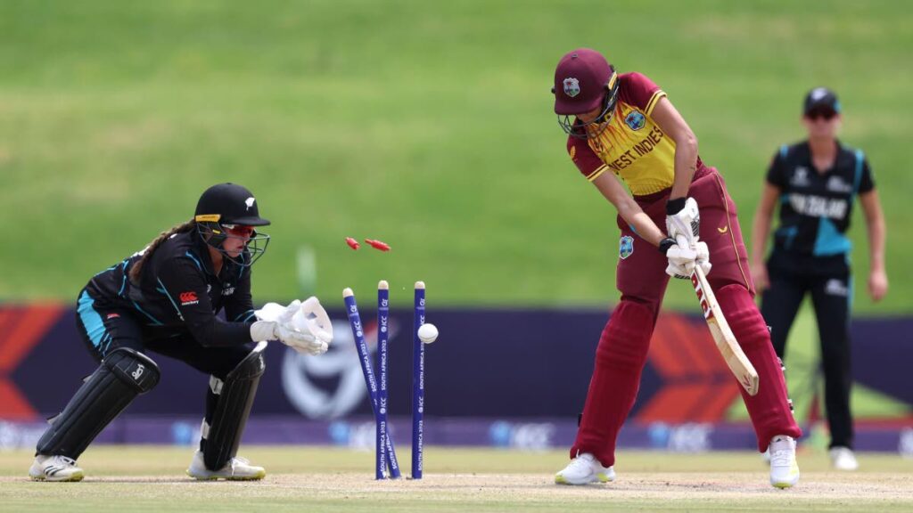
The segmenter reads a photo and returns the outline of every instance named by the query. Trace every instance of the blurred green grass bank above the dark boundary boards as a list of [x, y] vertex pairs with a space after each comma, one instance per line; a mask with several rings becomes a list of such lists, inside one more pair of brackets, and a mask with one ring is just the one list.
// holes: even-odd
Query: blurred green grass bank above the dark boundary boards
[[[836, 89], [891, 234], [882, 310], [857, 211], [856, 309], [908, 312], [911, 25], [887, 0], [4, 2], [0, 299], [74, 298], [234, 181], [274, 222], [260, 300], [302, 293], [310, 246], [325, 302], [382, 277], [424, 279], [435, 304], [614, 301], [614, 209], [568, 160], [549, 94], [561, 54], [589, 46], [666, 89], [746, 231], [804, 92]], [[693, 309], [687, 287], [666, 306]]]

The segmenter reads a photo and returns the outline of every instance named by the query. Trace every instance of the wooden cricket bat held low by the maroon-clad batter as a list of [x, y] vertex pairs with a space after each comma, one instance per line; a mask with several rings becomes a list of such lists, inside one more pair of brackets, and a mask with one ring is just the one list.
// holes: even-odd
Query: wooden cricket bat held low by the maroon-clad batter
[[691, 285], [698, 294], [700, 308], [704, 310], [704, 319], [707, 319], [710, 334], [713, 335], [713, 340], [717, 343], [717, 349], [723, 355], [723, 360], [729, 365], [729, 370], [735, 374], [736, 379], [749, 395], [757, 394], [758, 372], [754, 370], [754, 366], [742, 352], [732, 330], [729, 330], [729, 322], [723, 317], [717, 297], [713, 294], [707, 281], [707, 275], [700, 266], [695, 266], [694, 272], [691, 273]]

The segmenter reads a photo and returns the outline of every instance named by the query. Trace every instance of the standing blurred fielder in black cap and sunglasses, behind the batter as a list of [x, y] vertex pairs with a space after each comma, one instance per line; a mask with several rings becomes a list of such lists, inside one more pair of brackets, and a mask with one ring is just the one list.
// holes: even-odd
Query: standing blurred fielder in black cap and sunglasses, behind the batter
[[[834, 92], [812, 89], [803, 105], [808, 139], [783, 145], [767, 172], [751, 233], [751, 276], [763, 292], [761, 313], [771, 325], [773, 349], [780, 358], [792, 320], [805, 294], [811, 293], [821, 335], [830, 455], [835, 468], [855, 470], [848, 332], [853, 287], [845, 233], [858, 195], [868, 227], [868, 293], [877, 301], [887, 293], [885, 219], [866, 156], [836, 139], [840, 121]], [[777, 204], [780, 226], [765, 265]]]

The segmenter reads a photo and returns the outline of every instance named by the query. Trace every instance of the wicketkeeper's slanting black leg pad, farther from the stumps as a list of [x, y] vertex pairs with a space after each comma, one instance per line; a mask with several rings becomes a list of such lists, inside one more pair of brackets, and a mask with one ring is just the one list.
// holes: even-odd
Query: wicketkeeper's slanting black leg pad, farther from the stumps
[[111, 351], [51, 421], [38, 440], [37, 454], [79, 458], [137, 395], [158, 382], [159, 367], [148, 356], [128, 348]]

